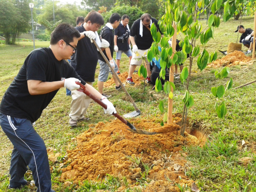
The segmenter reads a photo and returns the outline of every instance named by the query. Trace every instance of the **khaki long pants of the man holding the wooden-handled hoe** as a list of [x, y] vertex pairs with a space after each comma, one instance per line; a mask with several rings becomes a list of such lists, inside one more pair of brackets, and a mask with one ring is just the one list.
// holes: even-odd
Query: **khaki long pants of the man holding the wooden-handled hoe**
[[[89, 85], [93, 85], [94, 82], [86, 82]], [[84, 94], [83, 92], [74, 90], [71, 92], [72, 102], [70, 105], [69, 117], [73, 120], [79, 120], [84, 118], [84, 114], [91, 102], [91, 98]]]

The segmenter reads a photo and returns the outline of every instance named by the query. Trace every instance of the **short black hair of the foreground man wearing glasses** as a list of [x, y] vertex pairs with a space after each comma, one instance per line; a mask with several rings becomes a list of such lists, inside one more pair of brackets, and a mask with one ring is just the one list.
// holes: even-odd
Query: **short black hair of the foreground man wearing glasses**
[[78, 30], [76, 30], [70, 24], [61, 23], [51, 33], [50, 44], [55, 45], [59, 40], [64, 40], [65, 42], [70, 43], [74, 41], [74, 37], [80, 37]]

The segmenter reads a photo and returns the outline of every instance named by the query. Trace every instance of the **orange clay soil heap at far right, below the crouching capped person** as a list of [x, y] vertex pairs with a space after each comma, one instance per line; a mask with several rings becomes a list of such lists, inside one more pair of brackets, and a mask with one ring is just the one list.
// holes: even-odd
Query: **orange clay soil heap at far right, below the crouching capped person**
[[208, 64], [210, 67], [221, 67], [221, 66], [232, 66], [232, 65], [243, 65], [249, 62], [252, 58], [245, 56], [242, 51], [234, 51], [221, 59], [217, 59], [213, 63]]

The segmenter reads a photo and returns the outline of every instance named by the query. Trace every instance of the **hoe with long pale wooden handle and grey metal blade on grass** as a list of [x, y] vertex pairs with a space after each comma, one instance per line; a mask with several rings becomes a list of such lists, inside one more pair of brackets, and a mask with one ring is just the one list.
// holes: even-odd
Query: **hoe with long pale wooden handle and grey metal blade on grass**
[[119, 84], [121, 85], [121, 87], [123, 88], [124, 92], [126, 93], [126, 95], [128, 96], [128, 98], [130, 99], [130, 102], [132, 102], [132, 105], [134, 106], [136, 111], [130, 112], [128, 114], [125, 114], [124, 117], [125, 118], [131, 118], [131, 117], [136, 117], [138, 115], [140, 115], [140, 110], [138, 109], [138, 107], [136, 106], [134, 100], [132, 99], [132, 97], [130, 96], [130, 94], [128, 93], [128, 91], [126, 90], [126, 88], [124, 87], [123, 83], [121, 82], [121, 80], [118, 78], [118, 75], [116, 74], [116, 72], [114, 71], [114, 69], [111, 67], [108, 59], [106, 58], [106, 56], [104, 55], [104, 53], [102, 52], [102, 50], [100, 49], [100, 47], [98, 46], [98, 44], [96, 43], [96, 41], [94, 39], [92, 39], [92, 42], [94, 43], [94, 45], [97, 47], [97, 49], [99, 50], [100, 54], [102, 55], [102, 57], [104, 58], [104, 60], [106, 61], [106, 63], [108, 64], [110, 70], [112, 71], [113, 75], [116, 77], [116, 79], [118, 80]]

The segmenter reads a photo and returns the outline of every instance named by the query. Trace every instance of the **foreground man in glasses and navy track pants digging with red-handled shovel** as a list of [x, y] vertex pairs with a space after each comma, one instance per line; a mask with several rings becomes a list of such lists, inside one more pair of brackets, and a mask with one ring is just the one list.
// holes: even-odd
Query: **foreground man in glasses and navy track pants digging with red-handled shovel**
[[70, 59], [76, 50], [79, 32], [68, 24], [58, 25], [51, 34], [50, 47], [33, 50], [6, 90], [0, 104], [0, 125], [14, 145], [10, 165], [9, 188], [27, 184], [24, 179], [27, 166], [38, 192], [54, 192], [51, 189], [51, 174], [47, 150], [42, 138], [33, 127], [58, 90], [79, 89], [77, 81], [106, 103], [107, 113], [115, 108], [106, 97], [86, 84], [65, 59]]

